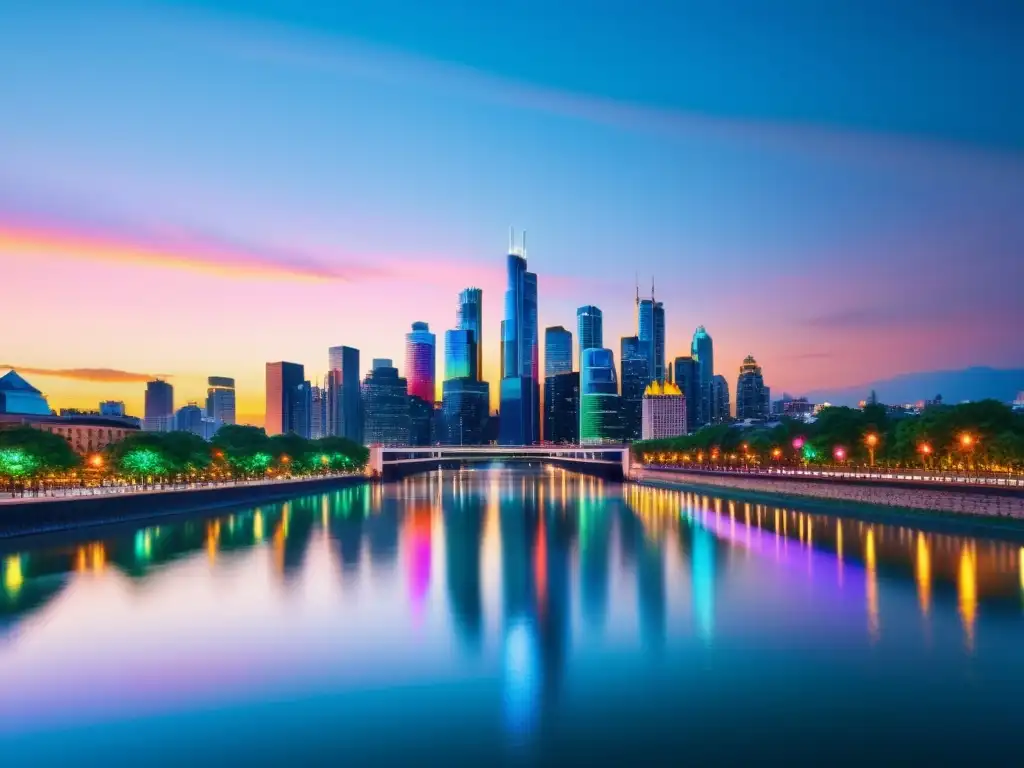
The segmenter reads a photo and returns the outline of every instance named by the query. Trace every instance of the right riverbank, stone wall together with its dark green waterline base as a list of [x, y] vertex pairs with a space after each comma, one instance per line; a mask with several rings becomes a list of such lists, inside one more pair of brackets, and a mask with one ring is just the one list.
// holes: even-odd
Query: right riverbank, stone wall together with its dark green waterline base
[[726, 493], [750, 501], [778, 504], [785, 500], [804, 506], [814, 503], [833, 511], [844, 506], [869, 506], [919, 518], [931, 513], [946, 519], [1001, 522], [1017, 530], [1024, 529], [1024, 493], [1009, 488], [936, 488], [905, 483], [653, 470], [634, 470], [633, 479], [641, 484]]

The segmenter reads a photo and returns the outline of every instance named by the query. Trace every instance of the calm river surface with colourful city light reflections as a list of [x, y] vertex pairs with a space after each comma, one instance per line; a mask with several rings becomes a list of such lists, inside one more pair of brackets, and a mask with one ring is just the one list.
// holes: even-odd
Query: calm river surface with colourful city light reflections
[[1021, 542], [496, 468], [4, 546], [12, 765], [1020, 743]]

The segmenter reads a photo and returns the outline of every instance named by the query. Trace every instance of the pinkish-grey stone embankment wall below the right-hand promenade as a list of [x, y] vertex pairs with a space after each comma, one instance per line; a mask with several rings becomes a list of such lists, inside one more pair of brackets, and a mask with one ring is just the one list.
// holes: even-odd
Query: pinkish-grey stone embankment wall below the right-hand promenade
[[651, 470], [634, 470], [633, 479], [640, 482], [644, 480], [670, 482], [687, 487], [729, 488], [753, 494], [1024, 520], [1024, 494], [1010, 488], [979, 486], [936, 488], [929, 487], [925, 483], [874, 484], [765, 475]]

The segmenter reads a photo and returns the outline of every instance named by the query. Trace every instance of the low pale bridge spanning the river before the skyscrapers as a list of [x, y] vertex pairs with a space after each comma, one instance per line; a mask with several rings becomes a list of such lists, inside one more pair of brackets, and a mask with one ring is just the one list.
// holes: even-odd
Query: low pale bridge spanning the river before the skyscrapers
[[487, 462], [553, 464], [622, 480], [630, 476], [628, 445], [370, 446], [370, 471], [385, 480], [404, 474]]

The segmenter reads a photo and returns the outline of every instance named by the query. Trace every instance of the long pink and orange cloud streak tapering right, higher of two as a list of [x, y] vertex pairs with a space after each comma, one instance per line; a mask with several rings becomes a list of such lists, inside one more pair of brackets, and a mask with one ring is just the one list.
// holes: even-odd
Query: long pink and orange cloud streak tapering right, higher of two
[[0, 255], [65, 256], [262, 280], [349, 281], [381, 271], [371, 267], [317, 263], [266, 249], [239, 248], [216, 239], [187, 233], [122, 236], [3, 221], [0, 221]]

